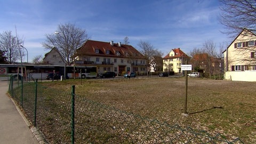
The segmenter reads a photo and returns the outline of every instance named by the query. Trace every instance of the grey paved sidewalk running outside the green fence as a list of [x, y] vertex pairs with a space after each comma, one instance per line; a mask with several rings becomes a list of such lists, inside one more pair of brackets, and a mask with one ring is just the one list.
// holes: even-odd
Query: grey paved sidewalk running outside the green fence
[[39, 143], [12, 100], [7, 81], [0, 81], [0, 143]]

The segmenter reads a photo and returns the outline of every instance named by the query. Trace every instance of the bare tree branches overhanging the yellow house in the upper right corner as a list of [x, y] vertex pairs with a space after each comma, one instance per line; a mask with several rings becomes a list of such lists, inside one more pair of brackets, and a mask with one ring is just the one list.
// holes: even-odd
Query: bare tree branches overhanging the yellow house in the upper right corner
[[226, 33], [231, 37], [237, 35], [244, 28], [256, 32], [256, 1], [255, 0], [219, 0], [219, 21], [226, 27]]

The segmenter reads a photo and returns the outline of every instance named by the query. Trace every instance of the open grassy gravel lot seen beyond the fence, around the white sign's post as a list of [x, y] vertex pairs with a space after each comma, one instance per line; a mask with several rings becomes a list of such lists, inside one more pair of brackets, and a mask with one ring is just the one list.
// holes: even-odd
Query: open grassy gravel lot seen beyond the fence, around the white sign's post
[[76, 94], [151, 119], [256, 142], [256, 82], [188, 78], [188, 117], [183, 117], [185, 78], [69, 79], [47, 82]]

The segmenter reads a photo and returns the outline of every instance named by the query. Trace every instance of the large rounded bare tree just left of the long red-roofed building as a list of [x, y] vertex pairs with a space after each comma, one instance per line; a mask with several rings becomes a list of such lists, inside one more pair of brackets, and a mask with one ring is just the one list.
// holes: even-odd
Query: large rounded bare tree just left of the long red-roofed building
[[75, 61], [74, 55], [77, 48], [89, 39], [85, 30], [70, 23], [60, 24], [55, 33], [46, 34], [45, 36], [46, 40], [42, 43], [43, 46], [46, 49], [53, 49], [55, 47], [67, 65], [71, 65]]

